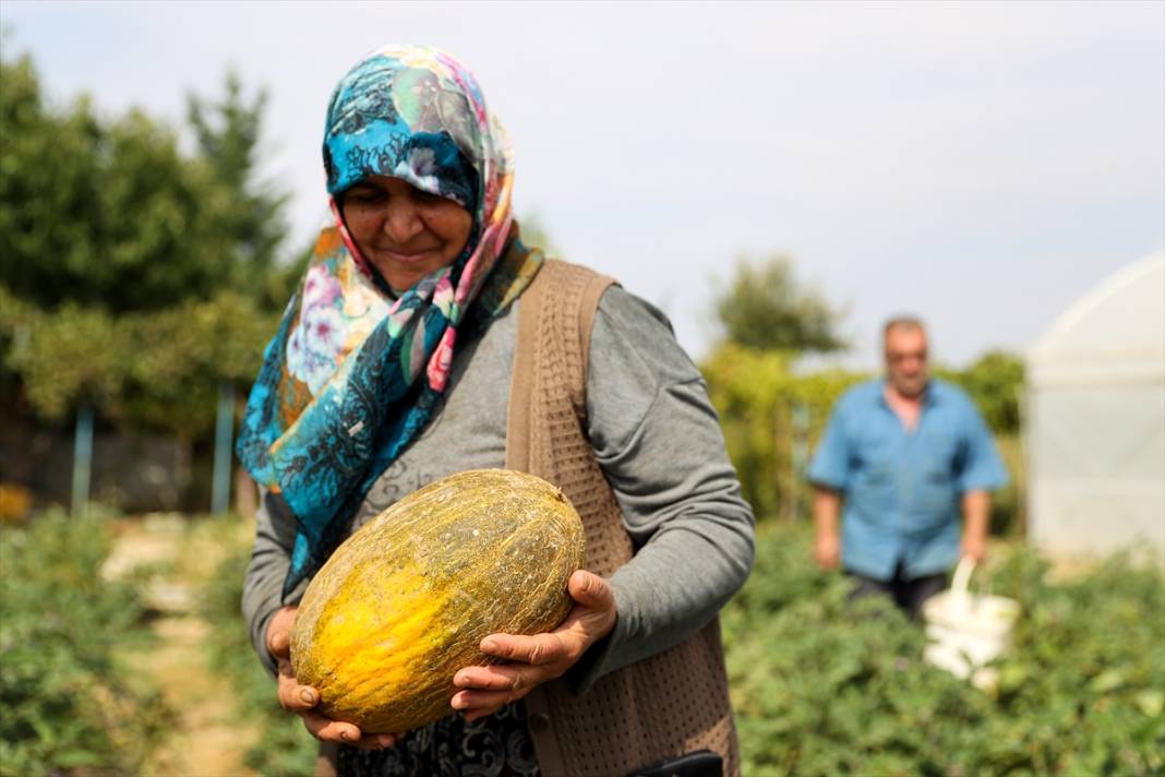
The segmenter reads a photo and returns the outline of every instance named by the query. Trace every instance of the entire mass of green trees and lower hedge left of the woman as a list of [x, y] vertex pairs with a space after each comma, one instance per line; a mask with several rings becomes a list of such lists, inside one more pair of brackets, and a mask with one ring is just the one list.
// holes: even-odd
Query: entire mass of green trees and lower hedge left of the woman
[[198, 153], [140, 112], [45, 104], [0, 61], [0, 382], [42, 419], [191, 439], [224, 381], [249, 382], [299, 266], [275, 261], [285, 196], [255, 183], [266, 94], [233, 76], [189, 98]]

